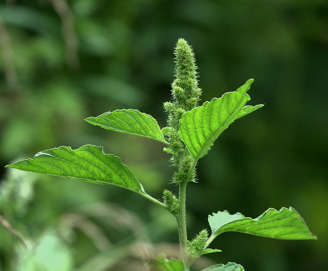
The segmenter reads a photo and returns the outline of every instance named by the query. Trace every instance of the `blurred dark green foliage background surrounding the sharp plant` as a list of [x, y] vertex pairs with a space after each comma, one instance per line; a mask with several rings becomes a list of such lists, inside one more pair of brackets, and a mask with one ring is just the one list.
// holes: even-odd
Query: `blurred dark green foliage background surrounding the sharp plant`
[[[187, 187], [188, 236], [227, 209], [256, 218], [293, 206], [317, 241], [225, 233], [200, 270], [328, 265], [328, 2], [326, 0], [7, 0], [0, 5], [0, 270], [146, 270], [178, 257], [173, 217], [124, 189], [5, 169], [61, 145], [104, 146], [161, 198], [173, 168], [163, 145], [85, 119], [135, 108], [166, 126], [173, 48], [193, 46], [202, 102], [255, 78], [255, 113], [234, 122]], [[6, 219], [6, 221], [4, 220]], [[10, 228], [9, 228], [10, 229]], [[326, 255], [326, 256], [324, 256]]]

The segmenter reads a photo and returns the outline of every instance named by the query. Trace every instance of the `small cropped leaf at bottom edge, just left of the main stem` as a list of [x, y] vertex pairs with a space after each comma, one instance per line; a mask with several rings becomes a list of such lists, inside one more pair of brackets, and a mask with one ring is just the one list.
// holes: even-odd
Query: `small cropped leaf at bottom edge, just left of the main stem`
[[165, 254], [159, 254], [153, 261], [146, 263], [149, 269], [156, 271], [184, 271], [183, 262], [181, 259], [170, 258], [166, 259]]

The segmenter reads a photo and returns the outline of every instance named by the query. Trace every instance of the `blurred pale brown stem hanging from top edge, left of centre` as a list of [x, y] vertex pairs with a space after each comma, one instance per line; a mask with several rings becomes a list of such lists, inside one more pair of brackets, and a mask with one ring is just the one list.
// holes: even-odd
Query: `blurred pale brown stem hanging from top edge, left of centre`
[[80, 61], [78, 57], [78, 38], [74, 31], [73, 13], [65, 0], [51, 0], [51, 2], [62, 20], [67, 65], [70, 69], [76, 70], [80, 66]]

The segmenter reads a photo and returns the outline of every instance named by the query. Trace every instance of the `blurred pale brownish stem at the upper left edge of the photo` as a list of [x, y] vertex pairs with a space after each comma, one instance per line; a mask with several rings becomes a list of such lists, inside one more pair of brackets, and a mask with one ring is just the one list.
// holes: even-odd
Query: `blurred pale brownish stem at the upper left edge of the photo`
[[17, 73], [15, 69], [14, 54], [11, 48], [10, 36], [0, 14], [0, 47], [5, 64], [6, 81], [10, 89], [16, 89], [18, 84]]

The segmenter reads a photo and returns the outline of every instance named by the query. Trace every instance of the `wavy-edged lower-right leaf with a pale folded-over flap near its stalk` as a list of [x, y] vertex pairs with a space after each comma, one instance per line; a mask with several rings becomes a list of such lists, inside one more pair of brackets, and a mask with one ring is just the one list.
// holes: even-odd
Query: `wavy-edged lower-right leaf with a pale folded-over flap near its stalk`
[[256, 219], [245, 218], [242, 214], [230, 215], [228, 211], [213, 213], [208, 216], [212, 229], [209, 244], [223, 232], [235, 231], [277, 239], [317, 239], [306, 226], [304, 220], [294, 208], [282, 207], [278, 212], [270, 208]]

